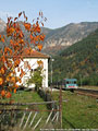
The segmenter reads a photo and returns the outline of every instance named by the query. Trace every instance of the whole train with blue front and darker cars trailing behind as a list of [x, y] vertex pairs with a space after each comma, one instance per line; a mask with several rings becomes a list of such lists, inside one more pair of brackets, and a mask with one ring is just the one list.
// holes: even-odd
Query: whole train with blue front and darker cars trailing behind
[[63, 90], [70, 90], [71, 92], [74, 92], [74, 90], [78, 87], [77, 79], [63, 79], [62, 81], [57, 82], [53, 86], [58, 88], [62, 86]]

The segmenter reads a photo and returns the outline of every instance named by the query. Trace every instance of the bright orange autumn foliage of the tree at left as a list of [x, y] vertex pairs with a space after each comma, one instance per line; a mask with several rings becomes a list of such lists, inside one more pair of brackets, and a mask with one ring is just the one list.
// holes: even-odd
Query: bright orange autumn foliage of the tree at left
[[[24, 21], [20, 21], [22, 15]], [[39, 16], [33, 20], [33, 23], [27, 21], [24, 11], [19, 13], [17, 17], [8, 17], [7, 35], [0, 35], [0, 41], [3, 47], [0, 50], [0, 97], [10, 98], [11, 92], [16, 93], [19, 87], [16, 83], [21, 83], [21, 79], [25, 74], [25, 71], [19, 67], [20, 62], [23, 61], [22, 53], [24, 49], [28, 48], [27, 53], [33, 48], [41, 50], [41, 41], [44, 41], [45, 35], [40, 32], [40, 24], [44, 26], [44, 21], [46, 21], [46, 17], [44, 17], [42, 12], [39, 12]], [[7, 44], [9, 45], [5, 46]], [[19, 78], [15, 74], [15, 68], [21, 71]], [[29, 69], [30, 67], [28, 66]]]

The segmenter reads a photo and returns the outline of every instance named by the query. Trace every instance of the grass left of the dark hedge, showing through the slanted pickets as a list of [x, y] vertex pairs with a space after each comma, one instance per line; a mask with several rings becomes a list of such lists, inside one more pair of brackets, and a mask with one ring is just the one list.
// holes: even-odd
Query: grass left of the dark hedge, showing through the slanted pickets
[[[33, 91], [30, 91], [30, 92], [20, 91], [20, 92], [17, 92], [16, 94], [12, 94], [12, 98], [11, 98], [11, 99], [2, 99], [2, 103], [8, 103], [9, 100], [12, 100], [13, 103], [35, 103], [35, 102], [44, 102], [44, 99], [40, 98], [40, 96], [39, 96], [36, 92], [33, 92]], [[5, 107], [3, 106], [3, 107], [0, 107], [0, 108], [5, 108]], [[9, 108], [9, 107], [7, 107], [7, 108]], [[11, 107], [11, 106], [10, 106], [10, 108], [14, 108], [14, 107]], [[24, 109], [25, 109], [25, 108], [28, 108], [28, 109], [47, 110], [46, 105], [39, 105], [39, 106], [20, 106], [20, 107], [16, 107], [16, 106], [15, 106], [15, 108], [21, 108], [21, 109], [23, 109], [23, 108], [24, 108]], [[15, 114], [16, 114], [16, 112], [15, 112]], [[16, 117], [16, 118], [17, 118], [17, 123], [16, 123], [16, 126], [13, 128], [13, 130], [19, 130], [19, 131], [22, 130], [22, 129], [19, 128], [19, 124], [21, 123], [21, 119], [22, 119], [23, 115], [24, 115], [24, 111], [20, 111], [20, 112], [17, 114], [17, 117]], [[24, 119], [24, 123], [23, 123], [22, 128], [24, 127], [24, 124], [25, 124], [25, 122], [26, 122], [26, 120], [27, 120], [28, 115], [29, 115], [29, 111], [26, 112], [26, 117], [25, 117], [25, 119]], [[32, 118], [29, 119], [29, 123], [30, 123], [34, 115], [35, 115], [35, 111], [33, 111], [33, 114], [32, 114]], [[41, 122], [39, 123], [39, 126], [38, 126], [38, 128], [36, 129], [36, 131], [39, 131], [40, 128], [45, 128], [45, 127], [46, 127], [45, 122], [46, 122], [46, 120], [47, 120], [47, 118], [48, 118], [48, 115], [49, 115], [49, 114], [48, 114], [47, 111], [39, 111], [39, 112], [37, 114], [36, 119], [35, 119], [35, 121], [34, 121], [34, 123], [33, 123], [33, 127], [36, 124], [36, 122], [39, 120], [40, 117], [42, 117], [42, 120], [41, 120]], [[11, 116], [10, 116], [10, 118], [11, 118]], [[5, 120], [4, 120], [4, 122], [5, 122]], [[7, 126], [7, 124], [5, 124], [5, 126]], [[33, 127], [32, 127], [32, 128], [33, 128]], [[10, 128], [11, 128], [11, 127], [10, 127]], [[26, 131], [26, 130], [27, 130], [27, 131], [30, 131], [30, 130], [33, 130], [32, 128], [26, 127], [25, 131]]]

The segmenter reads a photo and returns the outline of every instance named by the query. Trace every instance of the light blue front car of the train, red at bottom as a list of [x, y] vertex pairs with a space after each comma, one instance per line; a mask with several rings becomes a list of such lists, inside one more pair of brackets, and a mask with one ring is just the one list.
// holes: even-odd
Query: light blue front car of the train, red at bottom
[[77, 88], [77, 80], [76, 79], [64, 79], [63, 88], [74, 91], [74, 88]]

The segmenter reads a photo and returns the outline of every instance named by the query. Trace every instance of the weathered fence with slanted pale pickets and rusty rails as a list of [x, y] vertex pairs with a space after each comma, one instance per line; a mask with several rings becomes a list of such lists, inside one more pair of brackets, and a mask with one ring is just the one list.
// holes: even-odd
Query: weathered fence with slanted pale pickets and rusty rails
[[[0, 103], [0, 131], [30, 131], [38, 128], [54, 128], [56, 121], [58, 128], [62, 128], [62, 95], [60, 90], [60, 99], [52, 100], [50, 94], [39, 91], [40, 96], [46, 100], [41, 103]], [[45, 94], [45, 95], [44, 95]], [[38, 109], [38, 106], [47, 105], [47, 110]], [[48, 112], [44, 118], [42, 112]], [[44, 120], [45, 119], [45, 120]], [[44, 124], [40, 124], [44, 122]]]

